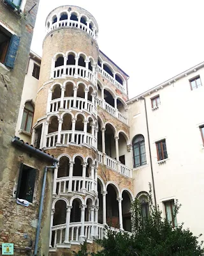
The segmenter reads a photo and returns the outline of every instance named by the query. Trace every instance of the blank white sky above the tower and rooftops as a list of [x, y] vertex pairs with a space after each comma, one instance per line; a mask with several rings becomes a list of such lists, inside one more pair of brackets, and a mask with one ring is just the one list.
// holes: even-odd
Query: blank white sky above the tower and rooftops
[[99, 49], [129, 75], [129, 98], [204, 61], [204, 1], [40, 0], [31, 50], [41, 56], [45, 19], [77, 5], [98, 22]]

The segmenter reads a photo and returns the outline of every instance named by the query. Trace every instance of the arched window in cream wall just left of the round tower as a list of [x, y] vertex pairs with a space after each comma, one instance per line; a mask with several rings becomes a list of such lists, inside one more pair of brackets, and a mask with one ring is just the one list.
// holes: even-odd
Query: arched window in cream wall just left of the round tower
[[26, 102], [20, 129], [26, 132], [31, 132], [31, 127], [33, 123], [33, 113], [33, 105], [31, 104], [31, 102]]

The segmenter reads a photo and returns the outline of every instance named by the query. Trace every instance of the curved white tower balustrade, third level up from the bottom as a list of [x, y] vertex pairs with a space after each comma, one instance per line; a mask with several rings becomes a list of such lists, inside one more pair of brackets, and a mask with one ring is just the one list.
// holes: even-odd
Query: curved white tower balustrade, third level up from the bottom
[[[75, 131], [75, 136], [73, 136], [73, 141], [71, 141], [73, 131], [61, 131], [61, 141], [62, 145], [69, 145], [70, 143], [75, 143], [76, 145], [87, 145], [89, 147], [96, 148], [97, 140], [92, 134], [88, 132]], [[47, 135], [47, 144], [46, 147], [55, 147], [57, 143], [58, 132], [52, 132]], [[86, 136], [85, 136], [86, 135]]]

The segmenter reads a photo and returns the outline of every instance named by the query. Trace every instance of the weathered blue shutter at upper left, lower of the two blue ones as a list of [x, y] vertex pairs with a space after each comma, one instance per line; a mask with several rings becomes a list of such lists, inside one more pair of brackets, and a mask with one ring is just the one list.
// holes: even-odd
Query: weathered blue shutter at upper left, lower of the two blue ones
[[10, 68], [14, 67], [19, 42], [20, 42], [20, 37], [19, 36], [13, 35], [11, 37], [10, 45], [8, 47], [8, 52], [7, 52], [7, 55], [6, 55], [6, 60], [4, 62], [4, 65], [6, 65], [7, 67], [10, 67]]

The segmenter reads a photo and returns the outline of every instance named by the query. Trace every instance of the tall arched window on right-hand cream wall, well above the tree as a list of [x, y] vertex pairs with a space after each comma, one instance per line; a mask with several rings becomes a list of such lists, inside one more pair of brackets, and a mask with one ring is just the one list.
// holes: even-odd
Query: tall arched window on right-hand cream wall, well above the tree
[[136, 168], [146, 163], [145, 138], [142, 134], [138, 134], [133, 138], [133, 167]]

